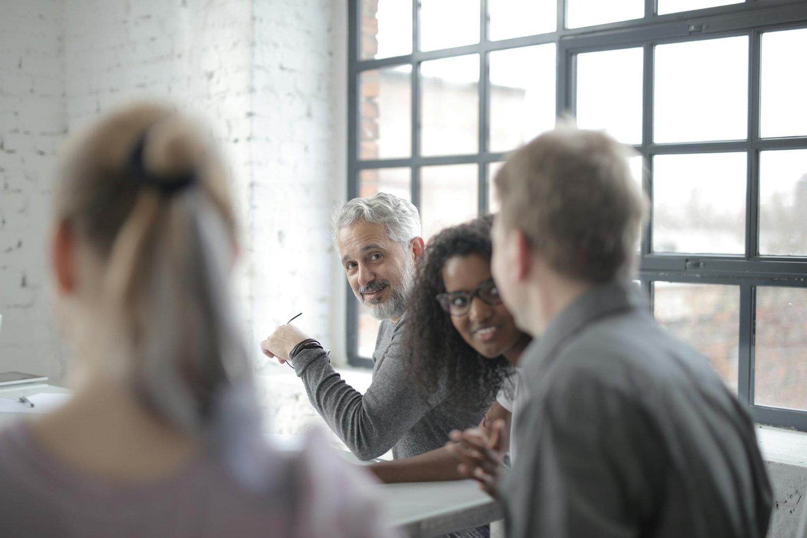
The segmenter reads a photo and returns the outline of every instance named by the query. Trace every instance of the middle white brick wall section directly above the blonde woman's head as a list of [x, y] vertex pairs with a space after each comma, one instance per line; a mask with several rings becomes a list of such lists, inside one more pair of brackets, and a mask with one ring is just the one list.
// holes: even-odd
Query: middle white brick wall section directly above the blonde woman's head
[[[65, 3], [69, 131], [138, 99], [169, 99], [199, 114], [224, 150], [243, 225], [241, 241], [249, 245], [252, 2]], [[249, 255], [243, 259], [238, 295], [249, 322]]]

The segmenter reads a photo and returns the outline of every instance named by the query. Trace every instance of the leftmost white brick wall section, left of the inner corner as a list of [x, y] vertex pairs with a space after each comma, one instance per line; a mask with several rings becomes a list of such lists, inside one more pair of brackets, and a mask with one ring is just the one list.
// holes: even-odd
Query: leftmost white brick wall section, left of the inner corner
[[62, 4], [3, 2], [0, 16], [0, 370], [64, 373], [52, 322], [47, 237], [65, 132]]

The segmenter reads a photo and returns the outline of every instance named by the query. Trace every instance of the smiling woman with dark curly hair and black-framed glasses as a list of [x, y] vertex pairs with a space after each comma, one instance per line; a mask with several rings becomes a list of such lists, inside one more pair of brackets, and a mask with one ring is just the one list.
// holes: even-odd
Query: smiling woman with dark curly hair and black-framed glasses
[[[508, 432], [513, 408], [524, 397], [514, 367], [530, 337], [516, 327], [493, 281], [491, 223], [491, 216], [482, 216], [444, 229], [426, 246], [405, 343], [412, 350], [412, 368], [432, 389], [448, 385], [454, 405], [478, 406], [478, 400], [470, 400], [480, 385], [496, 394], [479, 430], [494, 439], [496, 452], [509, 449], [513, 457]], [[370, 469], [387, 483], [467, 477], [448, 448]]]

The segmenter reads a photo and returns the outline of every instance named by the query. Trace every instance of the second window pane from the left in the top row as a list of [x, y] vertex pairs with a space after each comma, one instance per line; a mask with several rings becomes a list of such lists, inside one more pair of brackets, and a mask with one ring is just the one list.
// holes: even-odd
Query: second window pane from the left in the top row
[[420, 50], [479, 43], [479, 0], [420, 0]]

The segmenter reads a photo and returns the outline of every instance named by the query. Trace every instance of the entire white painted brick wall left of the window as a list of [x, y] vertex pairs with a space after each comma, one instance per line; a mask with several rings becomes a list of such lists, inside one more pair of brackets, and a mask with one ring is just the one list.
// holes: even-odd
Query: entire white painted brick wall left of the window
[[[257, 343], [303, 311], [299, 325], [337, 362], [345, 358], [345, 284], [328, 229], [346, 191], [345, 1], [37, 0], [2, 7], [0, 370], [60, 380], [68, 366], [50, 315], [45, 242], [51, 170], [64, 133], [119, 103], [164, 97], [205, 116], [222, 142], [244, 223], [245, 332], [274, 402], [274, 429], [299, 427], [300, 414], [311, 418], [312, 410], [299, 385], [296, 397], [272, 397], [270, 378], [280, 370]], [[295, 400], [301, 407], [282, 409], [282, 401]]]

